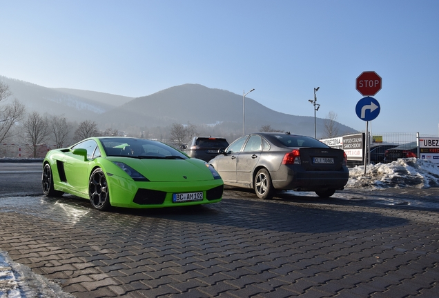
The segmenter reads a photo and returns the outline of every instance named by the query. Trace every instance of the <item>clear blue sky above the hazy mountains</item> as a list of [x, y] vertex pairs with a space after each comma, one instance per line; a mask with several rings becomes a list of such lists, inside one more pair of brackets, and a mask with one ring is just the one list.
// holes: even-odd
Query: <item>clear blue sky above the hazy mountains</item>
[[312, 117], [320, 87], [317, 117], [364, 130], [355, 79], [373, 70], [373, 133], [438, 135], [437, 0], [0, 0], [0, 11], [0, 75], [13, 79], [129, 97], [255, 88], [247, 97]]

